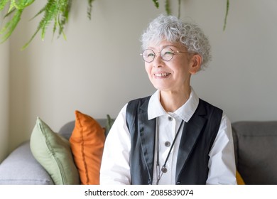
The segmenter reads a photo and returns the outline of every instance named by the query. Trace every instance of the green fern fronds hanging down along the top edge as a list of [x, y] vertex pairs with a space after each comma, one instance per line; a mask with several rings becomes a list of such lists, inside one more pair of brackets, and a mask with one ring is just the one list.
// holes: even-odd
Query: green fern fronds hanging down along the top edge
[[[31, 6], [34, 1], [36, 0], [0, 0], [0, 12], [7, 10], [4, 18], [8, 20], [4, 24], [4, 27], [0, 30], [0, 43], [4, 43], [11, 36], [19, 21], [21, 20], [21, 15], [23, 14], [23, 11], [25, 11], [28, 6]], [[93, 1], [94, 0], [87, 0], [87, 17], [89, 19], [91, 18]], [[154, 6], [159, 9], [159, 1], [152, 1]], [[178, 18], [180, 18], [180, 5], [181, 0], [178, 0]], [[53, 24], [53, 36], [55, 36], [55, 34], [58, 34], [58, 37], [60, 37], [60, 35], [63, 35], [63, 38], [66, 39], [64, 29], [65, 25], [68, 22], [71, 6], [72, 0], [47, 0], [45, 6], [43, 6], [43, 8], [38, 11], [38, 14], [33, 16], [33, 18], [36, 18], [40, 15], [43, 15], [43, 17], [40, 19], [40, 22], [38, 23], [38, 27], [35, 33], [33, 33], [33, 36], [31, 36], [30, 40], [25, 45], [23, 45], [22, 50], [28, 47], [28, 45], [31, 43], [31, 41], [33, 41], [33, 38], [35, 38], [39, 31], [41, 31], [40, 38], [44, 40], [45, 33], [50, 24]], [[226, 28], [228, 11], [229, 0], [227, 0], [227, 10], [224, 18], [223, 30], [225, 30]], [[171, 14], [170, 0], [165, 0], [165, 12], [168, 15]]]

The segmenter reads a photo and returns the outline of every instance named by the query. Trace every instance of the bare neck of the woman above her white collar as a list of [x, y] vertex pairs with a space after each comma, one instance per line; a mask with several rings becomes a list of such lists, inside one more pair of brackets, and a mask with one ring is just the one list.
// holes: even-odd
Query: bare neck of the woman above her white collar
[[190, 97], [190, 87], [183, 91], [162, 91], [160, 92], [160, 101], [166, 112], [175, 112], [182, 107]]

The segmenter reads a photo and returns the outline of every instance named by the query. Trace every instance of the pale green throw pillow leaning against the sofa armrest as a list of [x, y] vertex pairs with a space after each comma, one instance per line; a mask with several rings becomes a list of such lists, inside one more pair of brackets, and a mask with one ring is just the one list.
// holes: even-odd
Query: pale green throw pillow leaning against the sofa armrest
[[52, 131], [39, 117], [31, 134], [30, 147], [56, 185], [80, 184], [69, 141]]

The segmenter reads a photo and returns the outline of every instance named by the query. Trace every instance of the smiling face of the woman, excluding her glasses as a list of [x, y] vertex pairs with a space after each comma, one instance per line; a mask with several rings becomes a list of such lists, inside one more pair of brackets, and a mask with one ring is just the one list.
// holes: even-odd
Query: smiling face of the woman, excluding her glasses
[[[171, 60], [161, 58], [161, 50], [171, 48], [173, 51], [188, 52], [184, 45], [161, 41], [158, 45], [149, 45], [155, 58], [151, 63], [145, 62], [146, 72], [154, 87], [162, 91], [182, 92], [190, 87], [190, 76], [199, 70], [195, 68], [194, 56], [190, 53], [175, 53]], [[199, 56], [199, 55], [198, 55]]]

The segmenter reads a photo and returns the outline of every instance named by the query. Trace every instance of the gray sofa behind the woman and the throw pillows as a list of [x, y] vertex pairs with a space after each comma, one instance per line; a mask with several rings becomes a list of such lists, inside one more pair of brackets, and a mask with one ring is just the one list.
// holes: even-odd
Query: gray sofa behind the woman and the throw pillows
[[[98, 119], [102, 127], [106, 119]], [[75, 122], [59, 134], [69, 139]], [[237, 170], [246, 184], [277, 184], [277, 121], [232, 124]], [[0, 164], [0, 184], [53, 184], [47, 171], [33, 158], [29, 141], [18, 146]]]

